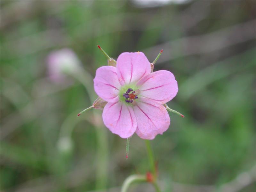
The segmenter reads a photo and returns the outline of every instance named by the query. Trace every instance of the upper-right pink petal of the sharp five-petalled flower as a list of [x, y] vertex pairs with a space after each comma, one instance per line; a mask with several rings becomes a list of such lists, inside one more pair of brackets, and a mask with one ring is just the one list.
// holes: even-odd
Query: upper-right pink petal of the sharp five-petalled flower
[[166, 70], [148, 74], [138, 82], [137, 86], [140, 87], [140, 96], [162, 104], [172, 100], [178, 92], [178, 83], [174, 75]]

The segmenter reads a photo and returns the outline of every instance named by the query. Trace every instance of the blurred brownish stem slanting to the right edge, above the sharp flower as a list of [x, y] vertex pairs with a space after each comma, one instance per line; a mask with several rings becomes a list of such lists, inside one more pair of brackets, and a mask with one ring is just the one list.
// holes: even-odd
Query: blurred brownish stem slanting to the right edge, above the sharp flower
[[144, 52], [147, 55], [157, 55], [158, 50], [164, 49], [167, 54], [162, 54], [157, 61], [159, 64], [181, 56], [220, 51], [229, 46], [255, 39], [255, 23], [256, 20], [250, 20], [206, 35], [183, 37], [150, 47]]

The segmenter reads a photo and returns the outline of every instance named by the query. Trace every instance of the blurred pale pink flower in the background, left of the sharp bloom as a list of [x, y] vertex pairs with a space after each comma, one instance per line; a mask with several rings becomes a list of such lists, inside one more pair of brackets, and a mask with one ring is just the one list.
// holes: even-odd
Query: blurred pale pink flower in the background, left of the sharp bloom
[[76, 73], [81, 63], [76, 54], [68, 48], [51, 52], [47, 58], [48, 74], [54, 83], [67, 83], [67, 74]]

